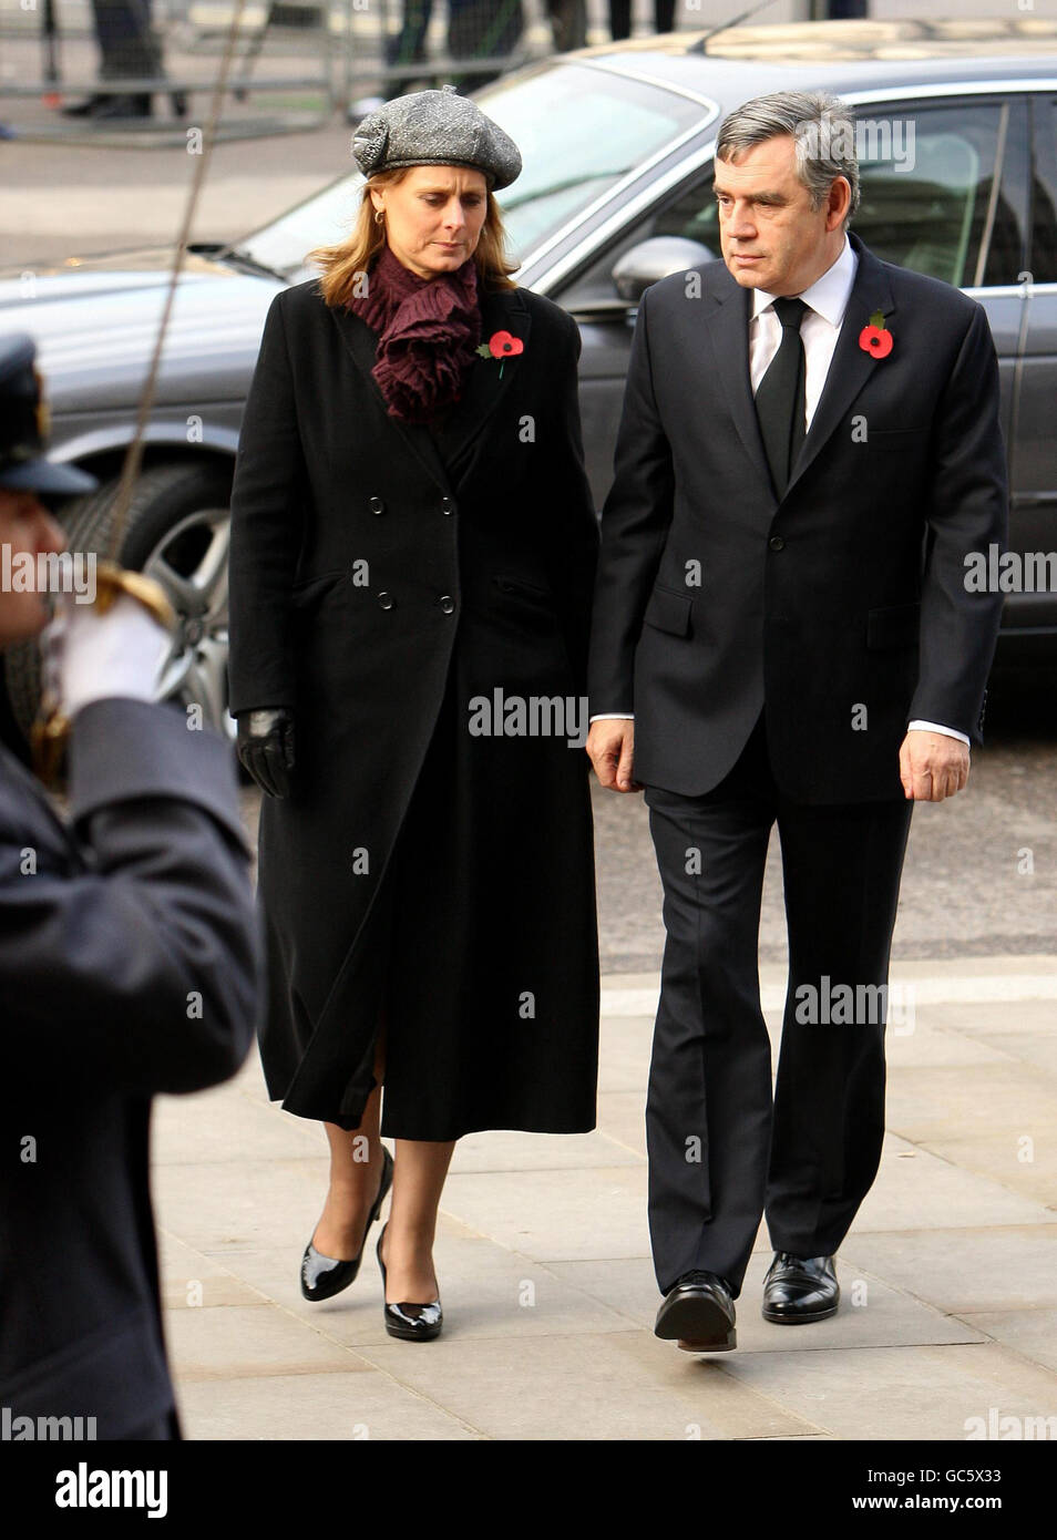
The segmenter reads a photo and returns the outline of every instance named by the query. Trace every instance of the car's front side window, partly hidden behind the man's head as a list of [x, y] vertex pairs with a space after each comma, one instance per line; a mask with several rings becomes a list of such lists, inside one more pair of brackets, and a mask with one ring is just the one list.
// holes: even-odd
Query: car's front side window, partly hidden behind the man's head
[[[1023, 103], [861, 108], [861, 202], [851, 228], [886, 262], [946, 283], [1015, 283], [1023, 229], [1008, 183], [1012, 168], [1026, 165], [1026, 136]], [[562, 305], [612, 303], [613, 263], [650, 236], [683, 236], [720, 256], [710, 165], [596, 257]]]

